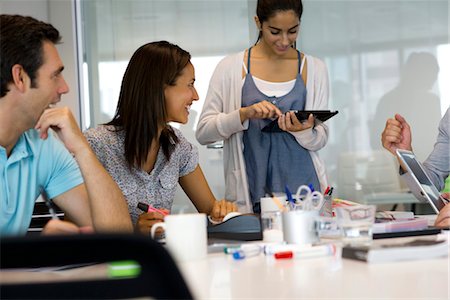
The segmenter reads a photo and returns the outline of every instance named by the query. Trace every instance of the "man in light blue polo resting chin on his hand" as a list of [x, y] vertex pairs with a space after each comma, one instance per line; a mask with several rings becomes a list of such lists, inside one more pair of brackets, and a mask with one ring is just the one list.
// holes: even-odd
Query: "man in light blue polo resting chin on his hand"
[[[101, 166], [68, 108], [52, 107], [69, 91], [52, 25], [0, 15], [0, 234], [27, 231], [39, 194], [75, 224], [50, 232], [132, 231], [123, 195]], [[57, 138], [57, 137], [58, 138]]]

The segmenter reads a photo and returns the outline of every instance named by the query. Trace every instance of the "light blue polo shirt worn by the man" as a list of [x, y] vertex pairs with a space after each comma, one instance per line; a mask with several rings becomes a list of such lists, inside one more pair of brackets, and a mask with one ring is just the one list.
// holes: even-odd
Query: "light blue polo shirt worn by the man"
[[54, 132], [42, 140], [30, 129], [11, 155], [0, 146], [0, 235], [25, 234], [42, 189], [54, 198], [83, 183], [80, 169]]

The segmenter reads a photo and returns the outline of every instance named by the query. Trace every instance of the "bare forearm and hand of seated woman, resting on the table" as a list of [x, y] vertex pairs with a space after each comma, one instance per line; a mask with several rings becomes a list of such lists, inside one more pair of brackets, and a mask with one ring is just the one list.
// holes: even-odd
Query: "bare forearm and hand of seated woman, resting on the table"
[[180, 177], [179, 182], [197, 210], [210, 215], [214, 221], [221, 221], [228, 213], [237, 211], [233, 202], [216, 201], [199, 165], [193, 172]]

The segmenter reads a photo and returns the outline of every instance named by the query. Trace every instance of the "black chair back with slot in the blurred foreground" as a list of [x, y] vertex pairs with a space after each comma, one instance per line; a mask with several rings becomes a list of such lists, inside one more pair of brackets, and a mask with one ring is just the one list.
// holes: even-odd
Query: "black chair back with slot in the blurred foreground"
[[[125, 234], [7, 237], [0, 271], [133, 260], [131, 278], [0, 284], [2, 299], [192, 299], [171, 256], [150, 238]], [[0, 276], [1, 277], [1, 276]], [[141, 299], [140, 298], [140, 299]], [[147, 299], [147, 298], [145, 298]]]

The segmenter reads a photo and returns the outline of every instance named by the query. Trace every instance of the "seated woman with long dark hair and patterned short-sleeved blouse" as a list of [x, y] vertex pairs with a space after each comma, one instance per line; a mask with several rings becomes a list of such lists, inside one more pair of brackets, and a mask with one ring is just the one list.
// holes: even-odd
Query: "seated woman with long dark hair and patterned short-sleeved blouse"
[[125, 71], [114, 118], [85, 132], [142, 233], [148, 234], [164, 216], [142, 213], [138, 202], [170, 211], [178, 182], [197, 210], [214, 220], [236, 210], [233, 203], [216, 201], [197, 149], [168, 124], [187, 123], [191, 104], [198, 100], [190, 59], [188, 52], [166, 41], [141, 46]]

